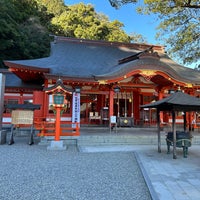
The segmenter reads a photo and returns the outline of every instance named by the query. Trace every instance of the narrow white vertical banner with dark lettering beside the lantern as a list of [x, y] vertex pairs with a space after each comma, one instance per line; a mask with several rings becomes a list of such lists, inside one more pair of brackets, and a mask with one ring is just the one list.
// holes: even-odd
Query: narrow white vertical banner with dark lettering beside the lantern
[[[80, 93], [73, 92], [73, 101], [72, 101], [72, 123], [80, 123]], [[72, 124], [72, 128], [75, 128], [76, 125]]]

